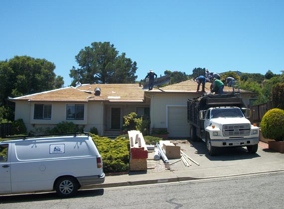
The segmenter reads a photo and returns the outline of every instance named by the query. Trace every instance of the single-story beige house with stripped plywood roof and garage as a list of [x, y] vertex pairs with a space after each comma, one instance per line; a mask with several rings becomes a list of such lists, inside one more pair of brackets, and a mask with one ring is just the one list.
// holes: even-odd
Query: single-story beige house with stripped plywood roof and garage
[[[130, 112], [150, 116], [151, 128], [167, 128], [169, 137], [188, 137], [187, 100], [203, 95], [197, 83], [187, 80], [152, 91], [140, 84], [86, 84], [9, 98], [15, 103], [15, 119], [22, 118], [27, 131], [40, 132], [62, 121], [72, 121], [88, 132], [120, 132], [123, 116]], [[210, 83], [205, 85], [209, 91]], [[201, 89], [201, 87], [200, 87]], [[224, 93], [232, 93], [225, 87]], [[253, 92], [241, 90], [247, 105]]]

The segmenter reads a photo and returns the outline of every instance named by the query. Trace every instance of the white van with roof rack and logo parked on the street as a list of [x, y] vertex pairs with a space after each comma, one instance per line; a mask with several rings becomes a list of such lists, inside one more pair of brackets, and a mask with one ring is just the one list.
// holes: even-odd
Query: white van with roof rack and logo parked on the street
[[105, 181], [102, 157], [88, 135], [0, 142], [0, 194], [56, 191], [71, 197]]

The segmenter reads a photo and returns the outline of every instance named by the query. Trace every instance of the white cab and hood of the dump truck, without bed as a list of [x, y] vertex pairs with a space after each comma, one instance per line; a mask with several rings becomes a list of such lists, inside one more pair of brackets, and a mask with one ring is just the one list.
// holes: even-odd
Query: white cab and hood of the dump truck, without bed
[[215, 147], [247, 146], [251, 153], [258, 150], [259, 127], [252, 125], [239, 107], [208, 108], [204, 128], [203, 140], [209, 154], [215, 152]]

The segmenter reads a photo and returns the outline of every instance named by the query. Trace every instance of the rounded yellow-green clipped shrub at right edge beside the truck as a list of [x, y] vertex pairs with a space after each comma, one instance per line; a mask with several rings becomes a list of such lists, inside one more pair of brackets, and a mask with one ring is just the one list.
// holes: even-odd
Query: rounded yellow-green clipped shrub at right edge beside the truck
[[265, 113], [261, 121], [261, 132], [265, 138], [284, 140], [284, 110], [270, 109]]

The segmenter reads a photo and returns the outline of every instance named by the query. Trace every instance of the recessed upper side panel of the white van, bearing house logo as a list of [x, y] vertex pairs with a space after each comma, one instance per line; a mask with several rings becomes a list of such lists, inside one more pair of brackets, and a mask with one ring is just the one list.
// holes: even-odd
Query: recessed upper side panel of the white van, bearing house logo
[[90, 147], [83, 139], [22, 141], [15, 144], [15, 151], [20, 161], [86, 157], [92, 154]]

